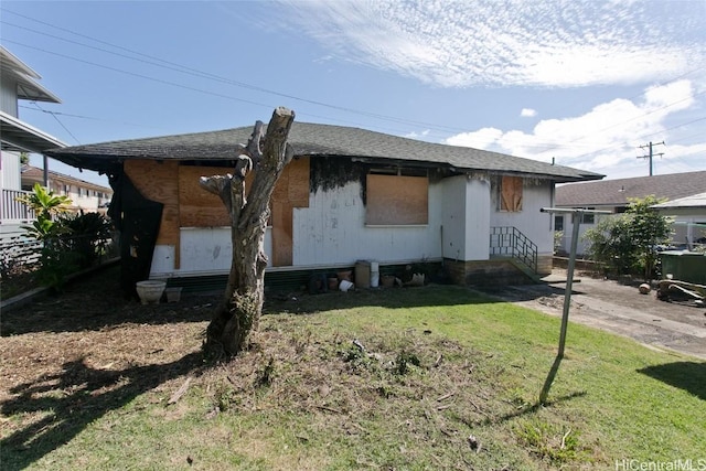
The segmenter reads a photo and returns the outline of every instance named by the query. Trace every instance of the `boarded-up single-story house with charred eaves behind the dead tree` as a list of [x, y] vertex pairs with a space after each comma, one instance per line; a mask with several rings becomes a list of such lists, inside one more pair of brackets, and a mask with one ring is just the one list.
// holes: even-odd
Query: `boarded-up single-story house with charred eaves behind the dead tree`
[[[108, 174], [115, 191], [108, 214], [122, 215], [124, 268], [126, 257], [146, 260], [142, 278], [133, 278], [225, 274], [228, 216], [199, 179], [232, 172], [235, 146], [252, 130], [76, 146], [49, 156]], [[295, 122], [289, 144], [295, 159], [271, 200], [268, 272], [426, 260], [443, 261], [459, 283], [480, 283], [516, 272], [522, 260], [548, 274], [554, 227], [539, 208], [553, 205], [557, 182], [602, 178], [340, 126]], [[150, 238], [153, 248], [145, 244]]]

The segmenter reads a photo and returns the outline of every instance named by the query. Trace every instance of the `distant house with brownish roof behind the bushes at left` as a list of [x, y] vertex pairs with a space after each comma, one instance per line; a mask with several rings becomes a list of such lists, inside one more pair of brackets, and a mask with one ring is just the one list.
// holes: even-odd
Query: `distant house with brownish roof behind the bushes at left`
[[49, 172], [49, 184], [44, 184], [44, 170], [32, 165], [22, 165], [22, 190], [31, 191], [35, 183], [47, 186], [54, 194], [68, 196], [72, 201], [69, 211], [74, 213], [105, 213], [113, 190], [95, 183], [86, 182], [63, 173]]

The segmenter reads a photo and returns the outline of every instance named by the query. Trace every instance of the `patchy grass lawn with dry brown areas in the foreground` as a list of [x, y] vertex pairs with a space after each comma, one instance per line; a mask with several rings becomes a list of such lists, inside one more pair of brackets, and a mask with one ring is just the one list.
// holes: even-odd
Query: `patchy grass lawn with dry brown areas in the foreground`
[[76, 314], [85, 329], [53, 324], [61, 314], [46, 304], [22, 318], [44, 327], [3, 319], [14, 333], [0, 346], [3, 469], [706, 459], [705, 363], [571, 324], [549, 404], [537, 406], [558, 319], [460, 287], [297, 298], [270, 299], [250, 350], [215, 366], [200, 356], [204, 298], [178, 308], [107, 300], [121, 315]]

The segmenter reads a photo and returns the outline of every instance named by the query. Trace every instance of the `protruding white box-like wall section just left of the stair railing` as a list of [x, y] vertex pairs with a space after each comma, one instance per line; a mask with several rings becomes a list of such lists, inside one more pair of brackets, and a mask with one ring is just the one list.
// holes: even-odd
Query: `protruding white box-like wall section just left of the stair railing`
[[443, 257], [488, 260], [490, 182], [466, 175], [443, 180]]

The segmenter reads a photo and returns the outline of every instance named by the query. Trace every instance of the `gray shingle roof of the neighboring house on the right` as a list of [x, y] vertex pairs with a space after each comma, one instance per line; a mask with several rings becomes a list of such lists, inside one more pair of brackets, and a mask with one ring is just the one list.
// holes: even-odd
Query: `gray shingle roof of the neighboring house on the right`
[[556, 189], [557, 206], [624, 206], [628, 197], [655, 195], [676, 200], [706, 192], [706, 171], [637, 176], [561, 185]]

